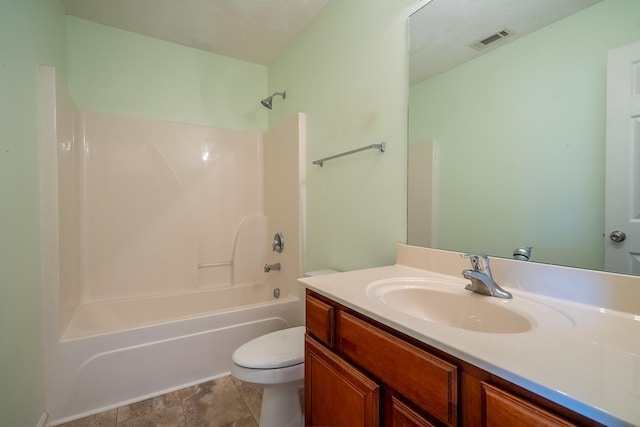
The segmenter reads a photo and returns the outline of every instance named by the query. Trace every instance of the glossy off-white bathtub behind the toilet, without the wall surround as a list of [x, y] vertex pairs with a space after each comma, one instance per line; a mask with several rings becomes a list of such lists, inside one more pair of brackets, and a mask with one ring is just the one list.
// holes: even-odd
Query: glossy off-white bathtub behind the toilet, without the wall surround
[[58, 342], [52, 425], [227, 375], [233, 351], [302, 323], [294, 295], [234, 286], [79, 307]]

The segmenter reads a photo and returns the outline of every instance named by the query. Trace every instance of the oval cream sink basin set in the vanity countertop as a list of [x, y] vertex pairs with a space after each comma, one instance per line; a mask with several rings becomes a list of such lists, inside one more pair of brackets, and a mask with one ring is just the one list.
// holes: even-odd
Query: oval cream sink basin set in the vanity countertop
[[504, 300], [464, 289], [464, 284], [426, 278], [385, 279], [371, 283], [367, 295], [409, 316], [454, 328], [494, 334], [530, 331], [535, 322]]

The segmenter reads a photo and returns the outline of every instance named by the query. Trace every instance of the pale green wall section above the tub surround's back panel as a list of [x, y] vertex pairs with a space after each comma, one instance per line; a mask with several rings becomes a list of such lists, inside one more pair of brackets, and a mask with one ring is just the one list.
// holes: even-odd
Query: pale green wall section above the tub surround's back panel
[[267, 68], [67, 17], [69, 92], [78, 108], [265, 131]]

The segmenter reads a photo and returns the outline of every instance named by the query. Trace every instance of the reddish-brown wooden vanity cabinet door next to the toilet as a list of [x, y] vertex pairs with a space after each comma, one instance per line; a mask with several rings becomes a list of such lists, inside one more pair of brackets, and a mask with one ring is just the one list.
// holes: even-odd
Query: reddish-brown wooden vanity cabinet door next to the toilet
[[305, 336], [305, 425], [377, 427], [379, 386]]

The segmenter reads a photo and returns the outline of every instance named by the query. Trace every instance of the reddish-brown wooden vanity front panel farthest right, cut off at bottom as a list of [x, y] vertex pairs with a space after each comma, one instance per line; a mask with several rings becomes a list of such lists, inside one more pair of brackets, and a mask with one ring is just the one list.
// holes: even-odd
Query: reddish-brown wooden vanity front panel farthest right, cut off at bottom
[[482, 401], [482, 425], [485, 426], [575, 426], [531, 402], [484, 382]]

